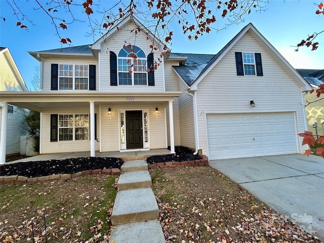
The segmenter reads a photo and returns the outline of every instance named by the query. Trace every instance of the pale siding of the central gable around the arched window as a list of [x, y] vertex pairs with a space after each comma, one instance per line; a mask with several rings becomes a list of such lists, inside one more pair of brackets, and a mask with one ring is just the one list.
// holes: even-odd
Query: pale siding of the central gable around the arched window
[[[104, 92], [163, 92], [164, 91], [164, 77], [163, 77], [163, 65], [160, 63], [154, 72], [154, 86], [110, 86], [110, 51], [114, 52], [118, 56], [118, 52], [124, 45], [135, 45], [141, 48], [147, 56], [152, 52], [150, 45], [152, 42], [147, 39], [144, 32], [140, 32], [135, 37], [130, 31], [136, 29], [133, 23], [129, 23], [123, 29], [116, 32], [111, 38], [101, 43], [101, 91]], [[132, 35], [132, 36], [130, 36]], [[127, 43], [126, 43], [127, 42]], [[158, 62], [160, 58], [160, 51], [154, 51], [154, 61]], [[163, 58], [160, 58], [163, 59]]]

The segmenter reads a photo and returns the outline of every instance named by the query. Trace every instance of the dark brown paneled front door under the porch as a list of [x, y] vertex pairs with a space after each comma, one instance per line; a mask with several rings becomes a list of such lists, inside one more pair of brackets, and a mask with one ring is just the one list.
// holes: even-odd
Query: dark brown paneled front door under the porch
[[142, 111], [126, 111], [126, 145], [127, 149], [143, 148]]

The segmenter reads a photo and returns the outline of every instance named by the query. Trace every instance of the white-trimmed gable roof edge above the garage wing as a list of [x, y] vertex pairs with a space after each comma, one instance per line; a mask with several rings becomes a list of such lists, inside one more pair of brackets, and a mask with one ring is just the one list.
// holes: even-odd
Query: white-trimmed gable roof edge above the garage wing
[[213, 67], [222, 59], [222, 57], [239, 41], [239, 39], [246, 33], [249, 33], [260, 46], [267, 52], [294, 80], [300, 85], [302, 91], [311, 90], [311, 86], [300, 75], [296, 69], [267, 41], [267, 39], [256, 29], [256, 27], [249, 23], [242, 28], [208, 63], [201, 71], [196, 73], [195, 77], [189, 79], [183, 74], [184, 71], [180, 71], [180, 68], [185, 69], [185, 65], [174, 67], [178, 75], [186, 82], [186, 84], [192, 89], [196, 90], [199, 82], [212, 70]]

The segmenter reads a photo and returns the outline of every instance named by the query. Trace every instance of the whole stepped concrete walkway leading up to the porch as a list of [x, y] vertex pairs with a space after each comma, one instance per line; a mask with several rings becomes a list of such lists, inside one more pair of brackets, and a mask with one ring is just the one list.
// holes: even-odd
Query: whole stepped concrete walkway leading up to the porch
[[121, 172], [111, 213], [115, 228], [111, 230], [109, 242], [165, 243], [146, 161], [125, 161]]

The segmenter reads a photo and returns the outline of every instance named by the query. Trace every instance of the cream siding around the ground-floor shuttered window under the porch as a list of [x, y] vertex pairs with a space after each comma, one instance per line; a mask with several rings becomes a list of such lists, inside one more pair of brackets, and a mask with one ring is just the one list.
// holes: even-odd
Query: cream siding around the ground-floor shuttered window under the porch
[[[58, 152], [78, 152], [90, 151], [90, 140], [79, 141], [58, 141], [51, 142], [51, 114], [89, 114], [89, 108], [56, 108], [44, 109], [42, 115], [42, 153], [58, 153]], [[97, 137], [99, 138], [99, 109], [95, 107], [97, 113]], [[95, 149], [99, 150], [99, 142], [95, 143]]]

